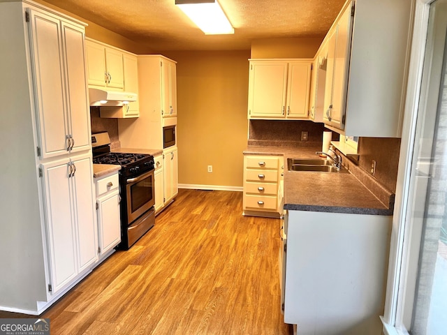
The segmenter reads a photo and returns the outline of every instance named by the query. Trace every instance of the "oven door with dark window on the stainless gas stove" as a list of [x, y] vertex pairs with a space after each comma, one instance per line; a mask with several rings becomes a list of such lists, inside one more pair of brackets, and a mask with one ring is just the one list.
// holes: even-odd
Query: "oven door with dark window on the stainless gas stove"
[[126, 180], [127, 224], [131, 224], [155, 204], [154, 170]]

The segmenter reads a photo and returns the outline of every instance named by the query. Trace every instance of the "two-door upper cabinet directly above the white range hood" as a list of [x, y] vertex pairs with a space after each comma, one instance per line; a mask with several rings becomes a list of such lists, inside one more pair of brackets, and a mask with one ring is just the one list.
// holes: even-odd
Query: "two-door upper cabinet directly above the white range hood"
[[123, 54], [94, 40], [85, 40], [87, 45], [87, 68], [89, 85], [124, 89]]

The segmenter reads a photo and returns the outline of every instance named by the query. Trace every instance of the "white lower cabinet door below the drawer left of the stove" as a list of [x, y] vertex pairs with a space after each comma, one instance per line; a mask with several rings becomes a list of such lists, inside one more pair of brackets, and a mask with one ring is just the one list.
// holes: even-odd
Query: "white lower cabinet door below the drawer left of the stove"
[[107, 253], [121, 241], [119, 221], [119, 191], [112, 191], [98, 199], [99, 248]]

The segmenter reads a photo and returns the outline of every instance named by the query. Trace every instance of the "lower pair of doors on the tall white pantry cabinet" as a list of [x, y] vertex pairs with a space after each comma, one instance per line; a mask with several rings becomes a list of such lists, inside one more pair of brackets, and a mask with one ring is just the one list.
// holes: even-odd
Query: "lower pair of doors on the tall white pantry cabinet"
[[41, 165], [52, 294], [98, 260], [89, 154]]

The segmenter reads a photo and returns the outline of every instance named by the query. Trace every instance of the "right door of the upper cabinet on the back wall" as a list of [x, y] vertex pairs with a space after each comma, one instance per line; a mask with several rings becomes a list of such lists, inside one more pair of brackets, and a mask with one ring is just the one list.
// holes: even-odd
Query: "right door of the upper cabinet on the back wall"
[[312, 63], [296, 61], [288, 64], [287, 118], [307, 119]]

